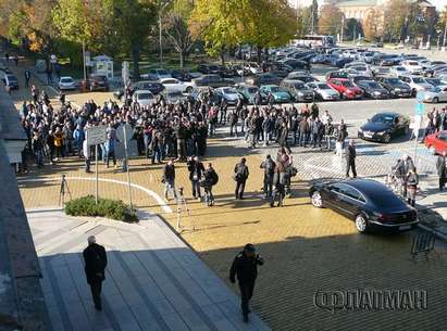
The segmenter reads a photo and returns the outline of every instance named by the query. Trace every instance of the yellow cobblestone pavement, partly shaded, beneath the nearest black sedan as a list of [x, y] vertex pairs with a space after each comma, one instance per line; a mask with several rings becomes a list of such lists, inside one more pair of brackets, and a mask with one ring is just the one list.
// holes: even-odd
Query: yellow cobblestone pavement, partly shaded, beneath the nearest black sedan
[[[85, 98], [89, 98], [88, 94]], [[342, 106], [342, 103], [338, 103], [338, 106]], [[398, 144], [393, 143], [389, 147]], [[358, 234], [350, 220], [331, 211], [311, 207], [307, 196], [308, 181], [299, 178], [293, 182], [293, 198], [286, 200], [285, 207], [271, 208], [260, 199], [262, 173], [259, 164], [262, 153], [266, 152], [266, 149], [249, 151], [239, 140], [212, 140], [207, 161], [213, 162], [220, 174], [220, 182], [215, 188], [216, 205], [207, 207], [188, 199], [190, 216], [182, 214], [185, 229], [181, 235], [225, 281], [229, 264], [240, 247], [247, 242], [258, 246], [266, 263], [260, 268], [253, 310], [273, 330], [446, 330], [447, 317], [444, 310], [447, 259], [440, 243], [436, 247], [438, 255], [433, 255], [429, 260], [418, 258], [413, 262], [409, 252], [414, 232], [389, 235]], [[275, 153], [276, 149], [270, 152]], [[302, 165], [319, 154], [296, 152], [300, 152], [295, 155], [296, 162], [301, 162], [301, 158]], [[241, 156], [247, 157], [251, 175], [247, 184], [247, 199], [234, 201], [231, 173], [234, 163]], [[369, 157], [375, 160], [380, 156]], [[332, 156], [324, 157], [327, 160], [321, 164], [331, 166]], [[359, 162], [361, 163], [360, 160]], [[20, 188], [25, 206], [55, 205], [59, 186], [49, 179], [60, 178], [61, 173], [67, 176], [73, 198], [92, 193], [91, 181], [71, 180], [71, 177], [94, 178], [92, 175], [85, 175], [80, 166], [79, 161], [63, 160], [57, 165], [46, 166], [40, 171], [32, 169], [32, 173], [21, 176]], [[141, 158], [132, 161], [131, 167], [134, 183], [161, 194], [160, 166], [151, 166], [147, 160]], [[312, 178], [302, 170], [303, 166], [299, 168], [301, 178]], [[360, 166], [359, 170], [365, 171]], [[333, 171], [328, 171], [327, 176], [332, 174]], [[123, 174], [115, 173], [113, 168], [105, 169], [102, 165], [100, 178], [125, 181]], [[41, 179], [44, 182], [28, 179]], [[184, 164], [178, 165], [177, 184], [184, 186], [186, 195], [190, 196]], [[133, 192], [138, 208], [160, 213], [175, 228], [175, 213], [166, 212], [153, 196], [140, 190], [135, 189]], [[100, 194], [124, 201], [127, 199], [125, 187], [110, 182], [100, 182]], [[169, 206], [175, 211], [173, 203]], [[193, 225], [195, 231], [191, 230]], [[313, 304], [314, 294], [319, 290], [371, 288], [426, 290], [429, 308], [412, 311], [347, 310], [332, 314], [316, 308]]]

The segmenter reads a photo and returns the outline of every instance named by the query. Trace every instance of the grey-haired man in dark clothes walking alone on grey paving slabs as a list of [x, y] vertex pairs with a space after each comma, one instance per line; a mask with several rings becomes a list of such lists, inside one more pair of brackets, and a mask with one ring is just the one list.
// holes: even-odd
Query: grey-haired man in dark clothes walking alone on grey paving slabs
[[88, 238], [88, 246], [84, 250], [85, 273], [90, 285], [95, 308], [102, 310], [101, 289], [105, 279], [107, 254], [103, 246], [96, 243], [96, 238]]

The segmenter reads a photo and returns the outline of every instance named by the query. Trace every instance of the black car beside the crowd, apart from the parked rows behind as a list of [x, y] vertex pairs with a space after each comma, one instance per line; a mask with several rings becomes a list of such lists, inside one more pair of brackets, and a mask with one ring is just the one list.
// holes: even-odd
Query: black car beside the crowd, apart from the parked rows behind
[[388, 143], [394, 137], [408, 135], [410, 119], [395, 112], [375, 114], [358, 130], [358, 137], [363, 140]]

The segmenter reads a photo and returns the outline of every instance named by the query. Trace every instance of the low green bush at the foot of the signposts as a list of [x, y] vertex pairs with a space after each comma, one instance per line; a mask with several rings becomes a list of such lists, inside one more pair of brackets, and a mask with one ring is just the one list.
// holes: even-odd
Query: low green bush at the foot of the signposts
[[137, 215], [121, 200], [98, 199], [95, 203], [94, 195], [72, 200], [65, 205], [66, 215], [107, 217], [122, 221], [137, 221]]

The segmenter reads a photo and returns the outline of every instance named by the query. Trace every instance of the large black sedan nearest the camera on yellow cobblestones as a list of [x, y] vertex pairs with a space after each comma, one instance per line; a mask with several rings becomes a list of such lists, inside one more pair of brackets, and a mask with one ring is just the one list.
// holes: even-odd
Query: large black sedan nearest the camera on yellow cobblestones
[[374, 228], [406, 231], [418, 225], [417, 211], [385, 184], [371, 179], [347, 179], [314, 183], [309, 195], [314, 207], [328, 207], [368, 232]]

